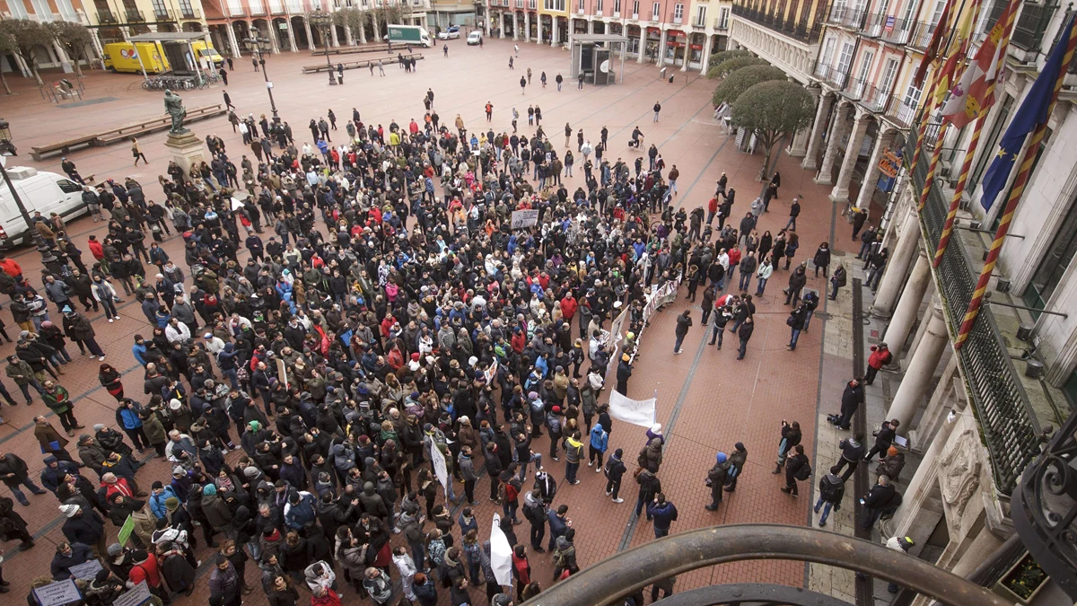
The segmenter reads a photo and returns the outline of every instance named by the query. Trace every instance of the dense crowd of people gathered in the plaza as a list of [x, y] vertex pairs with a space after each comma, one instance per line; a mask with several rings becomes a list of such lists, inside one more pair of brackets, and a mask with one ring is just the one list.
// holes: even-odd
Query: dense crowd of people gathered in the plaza
[[[721, 348], [731, 323], [743, 358], [754, 327], [751, 280], [759, 297], [773, 273], [789, 271], [796, 217], [777, 237], [756, 231], [778, 195], [777, 174], [766, 199], [736, 225], [736, 192], [725, 175], [707, 207], [677, 208], [679, 171], [667, 170], [656, 146], [644, 166], [639, 128], [626, 149], [635, 159], [625, 161], [611, 153], [604, 127], [592, 147], [583, 130], [571, 141], [567, 124], [568, 149], [559, 149], [537, 107], [528, 112], [527, 134], [518, 133], [514, 109], [509, 134], [470, 132], [459, 115], [450, 127], [439, 122], [433, 91], [422, 101], [422, 121], [388, 128], [364, 123], [353, 108], [332, 148], [332, 110], [328, 121], [310, 120], [314, 143], [299, 147], [286, 123], [232, 114], [253, 162], [211, 136], [209, 163], [186, 174], [172, 163], [159, 177], [162, 204], [132, 179], [86, 185], [94, 220], [108, 222], [108, 234], [87, 243], [90, 267], [62, 235], [40, 287], [0, 258], [0, 292], [12, 297], [23, 329], [6, 375], [28, 403], [31, 388], [41, 395], [78, 450], [71, 456], [69, 441], [37, 418], [46, 453], [40, 482], [59, 499], [67, 540], [52, 576], [36, 583], [68, 578], [100, 557], [104, 568], [80, 580], [88, 604], [110, 605], [142, 580], [167, 604], [194, 590], [198, 535], [216, 549], [213, 606], [239, 606], [253, 591], [249, 566], [260, 569], [260, 590], [274, 606], [294, 606], [307, 594], [316, 606], [335, 606], [348, 592], [374, 604], [403, 596], [429, 606], [448, 593], [453, 605], [504, 605], [578, 570], [577, 529], [570, 506], [553, 505], [559, 482], [548, 467], [563, 456], [564, 483], [578, 484], [588, 458], [604, 473], [605, 494], [624, 501], [635, 447], [627, 455], [613, 447], [613, 422], [600, 401], [611, 364], [617, 390], [628, 391], [648, 293], [683, 280], [695, 301], [702, 285], [711, 343]], [[656, 104], [656, 120], [658, 111]], [[561, 171], [571, 176], [574, 153], [584, 179], [570, 191]], [[517, 211], [537, 218], [513, 229]], [[173, 231], [184, 242], [181, 263], [159, 246]], [[814, 257], [824, 271], [825, 247]], [[801, 295], [805, 272], [806, 263], [789, 271], [791, 348], [819, 302]], [[103, 307], [113, 321], [117, 290], [135, 299], [149, 325], [131, 347], [144, 368], [139, 394], [125, 394], [78, 311]], [[50, 320], [46, 299], [62, 327]], [[623, 309], [629, 332], [612, 360], [604, 327]], [[691, 325], [686, 311], [677, 350]], [[84, 427], [59, 384], [67, 341], [100, 358], [118, 430], [97, 425], [75, 438]], [[544, 435], [545, 462], [533, 442]], [[798, 471], [807, 465], [799, 426], [786, 425], [782, 443], [775, 473], [784, 466], [796, 494], [796, 482], [807, 479]], [[632, 473], [635, 512], [654, 521], [659, 537], [676, 519], [658, 479], [663, 444], [656, 425]], [[169, 462], [169, 477], [139, 477], [136, 452], [149, 449]], [[735, 490], [746, 456], [740, 443], [717, 453], [707, 478], [709, 510]], [[435, 457], [444, 458], [447, 479], [431, 465]], [[23, 481], [25, 468], [14, 486], [38, 493]], [[498, 582], [482, 539], [490, 528], [474, 515], [484, 472], [488, 498], [503, 509], [515, 588]], [[8, 500], [5, 508], [0, 499], [0, 523], [18, 518]], [[106, 524], [128, 520], [129, 543], [110, 545]], [[517, 541], [514, 527], [524, 521], [529, 539]], [[23, 537], [25, 523], [20, 528], [11, 532]], [[532, 576], [528, 546], [549, 552], [553, 578]], [[656, 586], [653, 598], [659, 589], [672, 592], [673, 580]]]

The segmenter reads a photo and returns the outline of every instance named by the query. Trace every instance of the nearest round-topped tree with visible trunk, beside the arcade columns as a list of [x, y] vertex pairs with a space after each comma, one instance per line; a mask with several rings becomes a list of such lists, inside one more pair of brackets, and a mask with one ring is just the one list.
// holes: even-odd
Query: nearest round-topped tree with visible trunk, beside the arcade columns
[[787, 81], [760, 82], [733, 101], [730, 122], [749, 129], [764, 146], [760, 178], [770, 174], [770, 152], [786, 135], [811, 125], [815, 101], [803, 86]]

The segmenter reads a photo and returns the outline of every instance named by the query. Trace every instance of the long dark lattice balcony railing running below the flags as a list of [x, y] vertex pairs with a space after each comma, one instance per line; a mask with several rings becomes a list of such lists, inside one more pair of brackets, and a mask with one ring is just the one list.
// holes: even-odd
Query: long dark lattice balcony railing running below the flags
[[[906, 143], [907, 162], [911, 161], [915, 151], [918, 128], [919, 124], [913, 122]], [[937, 126], [934, 128], [929, 126], [928, 130], [934, 130], [937, 137]], [[913, 194], [918, 199], [924, 179], [927, 177], [931, 149], [934, 147], [934, 137], [928, 136], [925, 139], [920, 162], [910, 179]], [[924, 210], [920, 215], [926, 236], [928, 258], [933, 258], [938, 248], [949, 206], [950, 201], [943, 195], [942, 190], [933, 185]], [[950, 239], [950, 245], [942, 254], [942, 261], [936, 268], [941, 288], [939, 294], [942, 298], [942, 307], [946, 309], [943, 317], [950, 325], [951, 334], [956, 334], [961, 327], [979, 278], [979, 272], [973, 272], [968, 260], [977, 259], [979, 263], [979, 254], [969, 256], [962, 239], [954, 237]], [[990, 306], [980, 309], [979, 319], [968, 341], [957, 354], [980, 432], [991, 457], [995, 484], [999, 492], [1009, 495], [1013, 492], [1021, 472], [1039, 452], [1039, 424]]]

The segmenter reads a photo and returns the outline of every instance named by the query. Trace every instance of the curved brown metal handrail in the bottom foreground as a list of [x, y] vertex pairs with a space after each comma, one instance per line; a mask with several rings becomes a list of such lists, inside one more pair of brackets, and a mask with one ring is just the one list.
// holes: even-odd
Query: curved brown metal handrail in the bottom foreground
[[[800, 526], [730, 524], [699, 528], [646, 542], [593, 564], [550, 586], [524, 606], [619, 606], [644, 587], [671, 575], [744, 560], [797, 560], [865, 573], [905, 586], [948, 606], [1011, 606], [981, 587], [928, 564], [866, 540]], [[774, 586], [714, 586], [665, 598], [671, 606], [708, 604], [845, 605], [837, 598], [797, 588], [769, 597]], [[698, 592], [698, 593], [697, 593]], [[679, 596], [689, 596], [687, 598]], [[750, 597], [751, 596], [751, 597]]]

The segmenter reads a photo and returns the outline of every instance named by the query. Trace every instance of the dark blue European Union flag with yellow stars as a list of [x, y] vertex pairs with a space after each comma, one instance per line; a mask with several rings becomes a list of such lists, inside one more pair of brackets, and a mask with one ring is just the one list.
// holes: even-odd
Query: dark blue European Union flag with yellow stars
[[1013, 169], [1013, 163], [1017, 162], [1017, 154], [1021, 153], [1021, 148], [1024, 147], [1025, 137], [1035, 130], [1036, 126], [1047, 122], [1049, 118], [1047, 112], [1054, 99], [1054, 83], [1063, 77], [1060, 70], [1066, 49], [1069, 46], [1069, 38], [1074, 33], [1074, 16], [1069, 17], [1065, 25], [1065, 35], [1054, 45], [1054, 50], [1047, 57], [1047, 64], [1039, 71], [1039, 77], [1036, 78], [1036, 82], [1029, 89], [1021, 107], [1013, 114], [1013, 120], [1010, 121], [1002, 142], [998, 143], [998, 152], [983, 176], [983, 195], [980, 197], [980, 206], [984, 210], [991, 209], [998, 193], [1006, 187], [1010, 170]]

